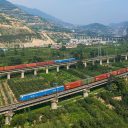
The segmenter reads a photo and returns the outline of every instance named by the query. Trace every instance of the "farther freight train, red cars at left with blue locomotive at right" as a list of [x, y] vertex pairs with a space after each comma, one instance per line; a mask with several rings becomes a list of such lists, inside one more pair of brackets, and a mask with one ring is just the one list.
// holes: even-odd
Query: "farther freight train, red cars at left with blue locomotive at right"
[[47, 61], [47, 62], [20, 64], [20, 65], [15, 65], [15, 66], [4, 66], [4, 67], [0, 67], [0, 71], [17, 70], [17, 69], [24, 69], [24, 68], [34, 68], [34, 67], [39, 67], [39, 66], [49, 66], [49, 65], [53, 65], [53, 64], [73, 62], [76, 60], [77, 60], [76, 58], [69, 58], [69, 59], [54, 60], [54, 61]]

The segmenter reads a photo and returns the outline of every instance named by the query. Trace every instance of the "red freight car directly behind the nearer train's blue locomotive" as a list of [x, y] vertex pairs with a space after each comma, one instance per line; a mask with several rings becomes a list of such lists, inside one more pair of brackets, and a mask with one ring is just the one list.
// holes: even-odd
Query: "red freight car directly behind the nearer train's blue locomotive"
[[82, 85], [82, 81], [78, 80], [78, 81], [75, 81], [75, 82], [67, 83], [67, 84], [64, 85], [64, 87], [65, 87], [65, 90], [68, 90], [68, 89], [72, 89], [72, 88], [77, 88], [81, 85]]

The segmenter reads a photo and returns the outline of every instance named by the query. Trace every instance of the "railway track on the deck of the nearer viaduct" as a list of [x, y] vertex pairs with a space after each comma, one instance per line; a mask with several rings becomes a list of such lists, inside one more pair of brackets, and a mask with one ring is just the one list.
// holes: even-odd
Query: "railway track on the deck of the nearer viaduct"
[[[127, 76], [127, 74], [128, 74], [128, 72], [124, 73], [124, 74], [121, 74], [121, 75], [118, 75], [118, 77]], [[91, 83], [91, 84], [88, 84], [88, 85], [83, 85], [83, 86], [80, 86], [78, 88], [74, 88], [74, 89], [63, 91], [63, 92], [59, 92], [57, 94], [57, 96], [58, 96], [58, 99], [63, 98], [63, 97], [66, 97], [66, 96], [69, 96], [69, 95], [72, 95], [72, 94], [76, 94], [78, 92], [82, 92], [84, 89], [89, 90], [89, 89], [92, 89], [92, 88], [95, 88], [95, 87], [98, 87], [98, 86], [102, 86], [102, 85], [106, 84], [107, 82], [108, 82], [108, 79], [105, 79], [105, 80], [94, 82], [94, 83]], [[48, 95], [48, 96], [45, 96], [45, 97], [40, 97], [40, 98], [37, 98], [37, 99], [33, 99], [33, 100], [30, 100], [30, 101], [15, 103], [15, 104], [11, 104], [11, 105], [8, 105], [8, 106], [0, 107], [0, 115], [5, 114], [8, 111], [17, 111], [17, 110], [32, 107], [32, 106], [35, 106], [35, 105], [38, 105], [38, 104], [50, 102], [55, 97], [56, 97], [56, 94], [52, 94], [52, 95]]]

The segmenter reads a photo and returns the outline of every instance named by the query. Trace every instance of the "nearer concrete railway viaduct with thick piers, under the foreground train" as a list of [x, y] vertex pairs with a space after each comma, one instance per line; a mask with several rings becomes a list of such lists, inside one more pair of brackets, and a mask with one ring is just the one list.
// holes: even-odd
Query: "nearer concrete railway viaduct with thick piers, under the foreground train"
[[[125, 77], [127, 79], [127, 75], [128, 75], [128, 72], [118, 75], [118, 77]], [[58, 99], [66, 97], [66, 96], [70, 96], [70, 95], [73, 95], [79, 92], [83, 92], [83, 97], [86, 98], [89, 95], [90, 89], [98, 87], [98, 86], [103, 86], [107, 83], [108, 83], [108, 79], [105, 79], [105, 80], [101, 80], [98, 82], [83, 85], [83, 86], [80, 86], [74, 89], [70, 89], [70, 90], [66, 90], [63, 92], [56, 93], [56, 94], [48, 95], [45, 97], [33, 99], [30, 101], [10, 104], [9, 106], [0, 107], [0, 115], [2, 114], [5, 115], [5, 124], [10, 125], [10, 122], [12, 120], [14, 113], [18, 110], [22, 110], [28, 107], [32, 107], [32, 106], [39, 105], [42, 103], [47, 103], [47, 102], [51, 102], [51, 109], [54, 110], [58, 108]]]

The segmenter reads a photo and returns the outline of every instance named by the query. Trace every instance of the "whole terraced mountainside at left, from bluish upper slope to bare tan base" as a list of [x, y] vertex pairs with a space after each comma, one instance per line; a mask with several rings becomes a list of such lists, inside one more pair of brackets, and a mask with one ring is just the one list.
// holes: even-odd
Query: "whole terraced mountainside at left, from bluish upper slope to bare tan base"
[[53, 44], [48, 34], [45, 36], [41, 31], [55, 29], [56, 26], [44, 18], [28, 14], [12, 3], [0, 0], [0, 47], [40, 47]]

